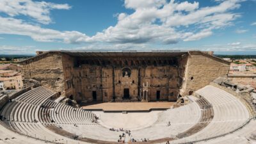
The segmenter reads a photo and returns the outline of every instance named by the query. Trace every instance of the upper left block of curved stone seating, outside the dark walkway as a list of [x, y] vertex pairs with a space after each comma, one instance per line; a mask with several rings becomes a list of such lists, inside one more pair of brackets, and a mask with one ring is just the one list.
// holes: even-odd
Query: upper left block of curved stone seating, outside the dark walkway
[[50, 99], [52, 93], [43, 87], [38, 87], [26, 92], [12, 100], [1, 109], [3, 121], [7, 127], [24, 136], [51, 143], [77, 143], [76, 140], [66, 138], [47, 129], [39, 122], [39, 109], [45, 100]]

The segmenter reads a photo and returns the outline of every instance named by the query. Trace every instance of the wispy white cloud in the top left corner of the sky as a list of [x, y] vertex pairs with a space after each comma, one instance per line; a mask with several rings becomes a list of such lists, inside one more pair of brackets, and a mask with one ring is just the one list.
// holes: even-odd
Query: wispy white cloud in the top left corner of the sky
[[0, 12], [4, 12], [10, 17], [17, 15], [26, 15], [32, 17], [37, 22], [42, 24], [49, 24], [52, 22], [50, 17], [50, 10], [68, 10], [68, 4], [54, 4], [45, 1], [31, 1], [31, 0], [1, 0]]

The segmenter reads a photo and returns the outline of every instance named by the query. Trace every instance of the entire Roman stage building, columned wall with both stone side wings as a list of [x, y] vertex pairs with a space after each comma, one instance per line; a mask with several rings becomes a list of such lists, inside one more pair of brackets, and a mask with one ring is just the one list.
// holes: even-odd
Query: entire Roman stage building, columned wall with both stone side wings
[[104, 102], [177, 100], [229, 67], [204, 52], [51, 51], [21, 64], [24, 79], [36, 79], [70, 99]]

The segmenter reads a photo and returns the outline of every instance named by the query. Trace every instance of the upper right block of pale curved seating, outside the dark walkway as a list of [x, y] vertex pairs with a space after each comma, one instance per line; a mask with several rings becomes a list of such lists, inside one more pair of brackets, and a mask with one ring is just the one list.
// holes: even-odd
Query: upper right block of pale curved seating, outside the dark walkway
[[241, 100], [220, 88], [208, 85], [195, 93], [211, 103], [214, 116], [210, 124], [202, 131], [174, 141], [174, 143], [218, 138], [236, 131], [250, 120], [250, 113]]

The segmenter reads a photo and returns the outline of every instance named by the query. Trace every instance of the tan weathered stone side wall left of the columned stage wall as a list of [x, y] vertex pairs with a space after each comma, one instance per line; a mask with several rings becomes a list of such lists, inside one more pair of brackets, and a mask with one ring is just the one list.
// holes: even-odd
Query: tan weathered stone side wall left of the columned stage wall
[[49, 52], [22, 61], [23, 79], [36, 79], [42, 86], [65, 95], [62, 56], [58, 52]]

